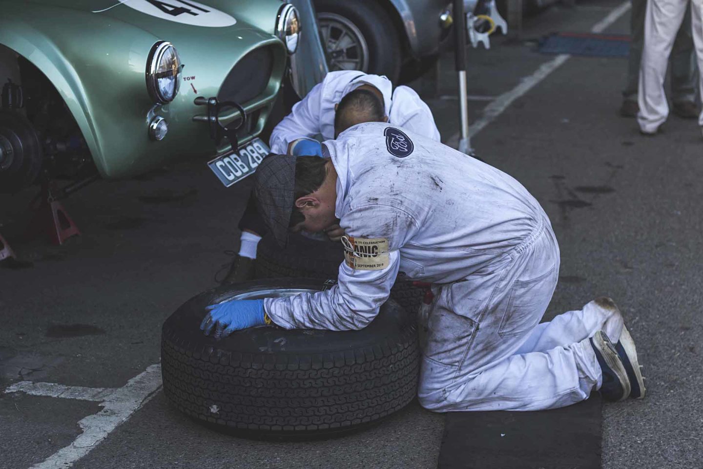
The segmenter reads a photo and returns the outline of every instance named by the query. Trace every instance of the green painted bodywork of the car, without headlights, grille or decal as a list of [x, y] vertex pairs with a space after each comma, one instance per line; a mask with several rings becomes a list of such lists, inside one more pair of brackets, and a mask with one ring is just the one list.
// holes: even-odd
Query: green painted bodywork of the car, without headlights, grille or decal
[[[46, 75], [75, 118], [98, 171], [117, 179], [226, 150], [227, 143], [216, 148], [207, 122], [193, 120], [207, 114], [193, 100], [217, 96], [236, 63], [266, 47], [273, 57], [268, 82], [257, 96], [240, 103], [255, 120], [240, 134], [240, 143], [259, 134], [285, 69], [285, 45], [273, 35], [282, 5], [279, 0], [210, 0], [205, 6], [236, 23], [207, 27], [158, 18], [120, 0], [0, 1], [0, 45]], [[157, 105], [146, 87], [146, 66], [150, 50], [162, 40], [174, 45], [184, 66], [176, 98]], [[148, 136], [148, 123], [156, 115], [169, 126], [162, 141]], [[220, 117], [226, 124], [238, 113]]]

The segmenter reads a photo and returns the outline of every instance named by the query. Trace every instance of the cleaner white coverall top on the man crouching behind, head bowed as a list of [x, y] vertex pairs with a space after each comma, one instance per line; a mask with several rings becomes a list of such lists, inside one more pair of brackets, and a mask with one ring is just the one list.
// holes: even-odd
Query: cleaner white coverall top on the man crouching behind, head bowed
[[321, 134], [323, 140], [335, 138], [335, 104], [364, 84], [375, 86], [383, 95], [388, 121], [420, 135], [439, 141], [432, 111], [408, 86], [397, 86], [382, 75], [367, 75], [359, 70], [329, 72], [325, 79], [310, 90], [302, 101], [295, 103], [289, 115], [271, 132], [271, 152], [278, 155], [288, 151], [288, 144], [301, 137]]

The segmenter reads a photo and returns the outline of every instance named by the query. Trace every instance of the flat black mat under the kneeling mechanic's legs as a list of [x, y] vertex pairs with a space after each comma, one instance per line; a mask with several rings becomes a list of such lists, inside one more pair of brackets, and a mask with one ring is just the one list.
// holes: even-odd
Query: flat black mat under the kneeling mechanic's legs
[[439, 469], [600, 469], [602, 401], [536, 412], [449, 412]]

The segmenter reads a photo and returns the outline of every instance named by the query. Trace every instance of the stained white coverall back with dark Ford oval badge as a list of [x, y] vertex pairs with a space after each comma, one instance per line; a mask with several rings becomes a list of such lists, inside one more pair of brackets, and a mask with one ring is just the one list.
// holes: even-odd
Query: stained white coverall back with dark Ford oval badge
[[342, 227], [388, 238], [411, 278], [456, 281], [489, 268], [546, 221], [508, 174], [411, 131], [360, 124], [325, 144]]

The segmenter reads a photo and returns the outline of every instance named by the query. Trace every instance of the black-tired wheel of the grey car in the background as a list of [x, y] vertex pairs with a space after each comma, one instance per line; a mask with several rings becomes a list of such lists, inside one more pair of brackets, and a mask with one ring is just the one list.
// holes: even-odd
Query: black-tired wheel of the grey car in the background
[[[315, 9], [330, 72], [360, 70], [397, 82], [403, 63], [399, 31], [381, 6], [366, 0], [315, 0]], [[335, 49], [332, 41], [342, 32], [353, 46]], [[359, 64], [352, 66], [350, 60]]]

